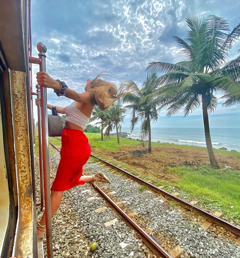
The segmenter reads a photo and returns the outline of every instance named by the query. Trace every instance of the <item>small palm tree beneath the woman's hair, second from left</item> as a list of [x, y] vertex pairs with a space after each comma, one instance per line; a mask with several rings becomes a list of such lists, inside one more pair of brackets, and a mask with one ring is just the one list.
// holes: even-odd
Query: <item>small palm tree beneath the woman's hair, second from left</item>
[[127, 109], [122, 107], [122, 100], [119, 99], [116, 102], [114, 102], [110, 108], [107, 110], [107, 117], [106, 123], [104, 126], [106, 126], [106, 132], [112, 131], [114, 128], [116, 128], [117, 132], [117, 139], [118, 144], [120, 144], [119, 141], [119, 128], [122, 126], [122, 123], [124, 121], [125, 113]]

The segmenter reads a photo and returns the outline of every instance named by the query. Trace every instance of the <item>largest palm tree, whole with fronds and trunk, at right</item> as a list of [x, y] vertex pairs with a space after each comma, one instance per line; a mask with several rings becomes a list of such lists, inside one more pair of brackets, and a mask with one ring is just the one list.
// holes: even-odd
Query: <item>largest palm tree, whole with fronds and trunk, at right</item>
[[184, 116], [187, 116], [202, 104], [210, 164], [219, 169], [212, 149], [208, 113], [213, 113], [217, 107], [215, 93], [221, 92], [233, 99], [240, 94], [239, 57], [225, 64], [232, 43], [240, 35], [240, 23], [226, 33], [229, 31], [228, 21], [215, 15], [206, 19], [191, 15], [185, 20], [190, 28], [186, 41], [176, 36], [173, 38], [181, 46], [186, 61], [176, 64], [152, 62], [146, 70], [165, 73], [159, 77], [158, 83], [161, 85], [159, 94], [166, 97], [164, 106], [169, 106], [167, 116], [175, 115], [184, 106]]

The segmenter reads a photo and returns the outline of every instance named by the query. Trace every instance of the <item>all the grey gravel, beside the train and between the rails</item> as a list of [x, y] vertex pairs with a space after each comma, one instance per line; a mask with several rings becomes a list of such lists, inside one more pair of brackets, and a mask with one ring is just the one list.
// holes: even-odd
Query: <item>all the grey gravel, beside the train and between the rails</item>
[[[50, 154], [51, 180], [54, 179], [59, 158], [58, 152]], [[37, 168], [36, 158], [36, 171]], [[180, 245], [184, 248], [181, 257], [240, 257], [239, 246], [215, 238], [198, 223], [186, 220], [179, 214], [179, 210], [162, 203], [152, 192], [141, 192], [138, 183], [111, 173], [101, 164], [88, 162], [84, 166], [84, 171], [89, 174], [100, 170], [110, 178], [111, 184], [99, 185], [106, 191], [116, 191], [114, 198], [126, 201], [125, 207], [129, 207], [147, 222], [145, 226], [153, 229], [150, 234], [162, 239], [162, 246]], [[36, 185], [39, 200], [39, 184]], [[86, 191], [82, 192], [84, 190]], [[87, 198], [90, 197], [94, 198], [88, 201]], [[119, 220], [110, 208], [95, 212], [95, 209], [103, 206], [106, 203], [89, 184], [64, 192], [62, 204], [52, 219], [54, 257], [152, 257], [145, 244], [135, 238], [133, 230]], [[40, 216], [39, 208], [38, 214]], [[104, 225], [113, 219], [116, 219], [114, 225]], [[89, 244], [94, 240], [98, 242], [98, 247], [91, 252]], [[45, 241], [44, 244], [46, 245]]]

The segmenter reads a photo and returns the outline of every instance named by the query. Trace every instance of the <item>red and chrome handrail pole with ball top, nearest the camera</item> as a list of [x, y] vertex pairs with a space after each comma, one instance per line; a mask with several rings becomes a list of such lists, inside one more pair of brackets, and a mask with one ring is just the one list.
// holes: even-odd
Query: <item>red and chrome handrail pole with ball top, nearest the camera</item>
[[[40, 72], [46, 72], [46, 51], [45, 44], [37, 44], [38, 56], [41, 59]], [[40, 87], [41, 92], [41, 129], [43, 143], [43, 172], [44, 172], [44, 199], [45, 199], [45, 217], [46, 217], [46, 242], [48, 258], [53, 258], [52, 253], [52, 223], [51, 223], [51, 200], [50, 200], [50, 170], [49, 170], [49, 152], [48, 152], [48, 125], [47, 125], [47, 92], [46, 88]]]

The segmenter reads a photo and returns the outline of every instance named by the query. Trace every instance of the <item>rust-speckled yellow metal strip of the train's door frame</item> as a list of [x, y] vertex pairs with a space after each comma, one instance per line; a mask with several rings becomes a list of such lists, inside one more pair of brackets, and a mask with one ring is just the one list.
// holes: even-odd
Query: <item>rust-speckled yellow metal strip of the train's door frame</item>
[[[14, 250], [16, 257], [31, 256], [33, 246], [33, 189], [29, 144], [26, 73], [10, 71], [13, 90], [14, 132], [16, 168], [19, 196], [18, 230]], [[24, 244], [22, 244], [24, 243]], [[19, 248], [21, 247], [21, 248]], [[31, 250], [31, 251], [30, 251]], [[23, 256], [24, 254], [24, 256]]]

